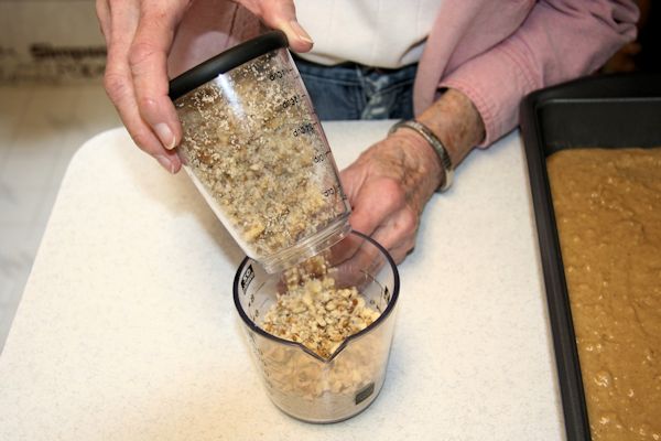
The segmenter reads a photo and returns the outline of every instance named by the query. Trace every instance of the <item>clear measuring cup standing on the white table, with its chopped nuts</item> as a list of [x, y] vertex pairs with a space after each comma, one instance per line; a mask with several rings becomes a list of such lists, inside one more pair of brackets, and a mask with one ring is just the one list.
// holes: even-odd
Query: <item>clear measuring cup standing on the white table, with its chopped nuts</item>
[[[269, 275], [254, 263], [246, 258], [240, 265], [234, 299], [273, 404], [308, 422], [342, 421], [366, 409], [386, 378], [399, 297], [399, 275], [388, 252], [353, 232], [322, 255], [283, 272]], [[311, 272], [313, 277], [305, 276]], [[347, 289], [358, 293], [348, 302], [353, 311], [342, 311]], [[324, 298], [328, 292], [332, 295]], [[292, 299], [296, 295], [300, 301]], [[293, 304], [279, 309], [283, 300]], [[357, 313], [356, 308], [362, 310]], [[334, 336], [336, 329], [327, 330], [350, 326], [367, 311], [373, 322], [357, 333], [340, 340]], [[266, 331], [273, 313], [280, 314], [275, 321], [284, 324], [289, 338]], [[318, 335], [329, 342], [318, 342]]]

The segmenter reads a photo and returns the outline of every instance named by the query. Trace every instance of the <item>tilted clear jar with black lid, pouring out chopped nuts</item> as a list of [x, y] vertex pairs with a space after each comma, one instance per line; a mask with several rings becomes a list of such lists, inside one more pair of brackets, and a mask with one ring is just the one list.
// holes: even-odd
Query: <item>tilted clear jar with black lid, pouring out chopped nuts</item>
[[286, 45], [283, 33], [269, 32], [170, 83], [184, 169], [268, 272], [350, 229], [337, 166]]

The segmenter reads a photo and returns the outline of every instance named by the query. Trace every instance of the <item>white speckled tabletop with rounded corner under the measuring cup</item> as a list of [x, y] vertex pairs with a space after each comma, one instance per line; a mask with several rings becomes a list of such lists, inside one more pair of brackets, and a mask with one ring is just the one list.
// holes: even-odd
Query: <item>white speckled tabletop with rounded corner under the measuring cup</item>
[[[338, 165], [388, 126], [325, 125]], [[231, 301], [238, 247], [185, 174], [104, 132], [72, 161], [0, 356], [0, 439], [562, 439], [527, 182], [512, 135], [434, 196], [381, 395], [314, 426], [261, 386]]]

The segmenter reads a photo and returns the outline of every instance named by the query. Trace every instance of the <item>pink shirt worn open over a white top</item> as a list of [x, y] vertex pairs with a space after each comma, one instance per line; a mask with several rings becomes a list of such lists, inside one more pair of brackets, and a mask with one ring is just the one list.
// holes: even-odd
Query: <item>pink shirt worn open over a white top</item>
[[[630, 0], [446, 0], [420, 60], [420, 114], [445, 87], [467, 95], [489, 146], [513, 129], [529, 93], [590, 74], [636, 36]], [[259, 21], [227, 0], [193, 2], [175, 36], [176, 75], [260, 32]]]

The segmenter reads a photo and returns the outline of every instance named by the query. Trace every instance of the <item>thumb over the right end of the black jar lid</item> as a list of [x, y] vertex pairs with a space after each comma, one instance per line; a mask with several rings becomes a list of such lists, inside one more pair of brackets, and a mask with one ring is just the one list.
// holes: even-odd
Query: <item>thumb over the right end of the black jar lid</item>
[[294, 52], [307, 52], [314, 42], [296, 20], [293, 0], [239, 0], [250, 12], [259, 17], [264, 24], [278, 29], [286, 35]]

